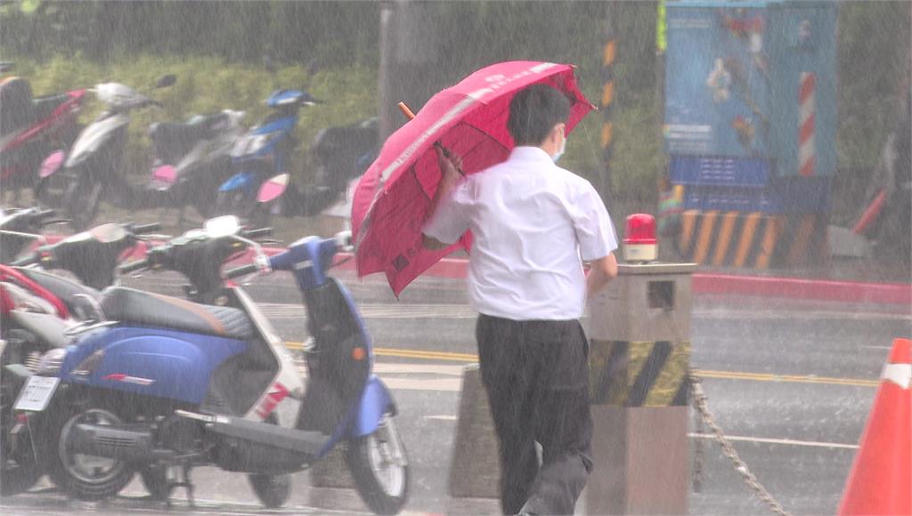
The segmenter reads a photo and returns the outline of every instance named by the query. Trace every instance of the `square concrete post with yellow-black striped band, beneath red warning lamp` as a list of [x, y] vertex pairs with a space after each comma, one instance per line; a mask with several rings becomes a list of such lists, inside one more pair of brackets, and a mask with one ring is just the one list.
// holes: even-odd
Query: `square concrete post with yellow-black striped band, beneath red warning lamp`
[[[686, 514], [692, 263], [621, 264], [589, 304], [589, 514]], [[657, 446], [657, 443], [660, 443]]]

